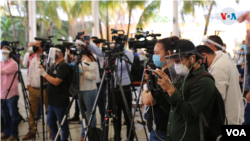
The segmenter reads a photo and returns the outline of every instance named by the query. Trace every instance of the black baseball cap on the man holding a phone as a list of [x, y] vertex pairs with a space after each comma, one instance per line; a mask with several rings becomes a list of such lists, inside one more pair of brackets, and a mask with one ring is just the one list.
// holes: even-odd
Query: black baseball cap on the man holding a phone
[[205, 59], [200, 53], [197, 52], [194, 44], [189, 40], [177, 40], [170, 48], [171, 54], [186, 54], [186, 55], [196, 55], [198, 59]]

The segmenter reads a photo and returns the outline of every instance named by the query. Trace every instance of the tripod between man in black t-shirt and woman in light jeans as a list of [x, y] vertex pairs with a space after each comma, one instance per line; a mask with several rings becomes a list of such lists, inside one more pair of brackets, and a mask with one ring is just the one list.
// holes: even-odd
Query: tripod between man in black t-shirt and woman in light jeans
[[[74, 96], [72, 97], [72, 99], [71, 99], [71, 101], [70, 101], [70, 103], [69, 103], [69, 105], [68, 105], [68, 107], [67, 107], [66, 113], [65, 113], [65, 115], [64, 115], [64, 117], [63, 117], [62, 122], [60, 123], [60, 127], [59, 127], [59, 129], [58, 129], [58, 132], [57, 132], [57, 134], [56, 134], [56, 137], [55, 137], [54, 141], [57, 141], [57, 138], [58, 138], [58, 136], [59, 136], [59, 134], [60, 134], [60, 132], [61, 132], [61, 130], [62, 130], [62, 126], [63, 126], [63, 124], [64, 124], [64, 122], [65, 122], [65, 120], [66, 120], [66, 118], [67, 118], [67, 115], [68, 115], [68, 113], [69, 113], [69, 110], [70, 110], [70, 108], [71, 108], [71, 106], [72, 106], [74, 100], [77, 99], [77, 97], [78, 97], [79, 104], [80, 104], [80, 112], [81, 112], [81, 114], [82, 114], [82, 124], [83, 124], [83, 122], [84, 122], [84, 119], [83, 119], [83, 117], [84, 117], [84, 112], [85, 112], [87, 121], [89, 121], [89, 116], [88, 116], [87, 108], [86, 108], [86, 106], [85, 106], [85, 103], [84, 103], [84, 101], [83, 101], [83, 99], [82, 99], [82, 95], [81, 95], [80, 90], [79, 90], [80, 88], [79, 88], [79, 69], [78, 69], [78, 66], [79, 66], [79, 64], [80, 64], [80, 59], [81, 59], [81, 57], [80, 57], [80, 55], [78, 55], [78, 56], [77, 56], [77, 63], [76, 63], [76, 65], [75, 65], [75, 70], [76, 70], [76, 72], [75, 72], [75, 74], [76, 74], [76, 93], [75, 93]], [[87, 64], [87, 63], [86, 63], [86, 64]], [[77, 106], [77, 104], [76, 104], [76, 106]]]

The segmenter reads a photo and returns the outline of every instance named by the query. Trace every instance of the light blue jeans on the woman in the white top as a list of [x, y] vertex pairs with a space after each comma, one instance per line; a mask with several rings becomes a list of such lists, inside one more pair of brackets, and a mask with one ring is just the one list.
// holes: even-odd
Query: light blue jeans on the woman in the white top
[[[91, 115], [91, 111], [93, 109], [94, 103], [95, 103], [95, 98], [96, 98], [96, 94], [97, 94], [97, 90], [90, 90], [90, 91], [81, 91], [82, 94], [82, 99], [85, 103], [85, 106], [87, 108], [87, 113], [88, 116], [90, 118]], [[78, 100], [78, 105], [79, 105], [79, 109], [81, 109], [80, 107], [80, 103]], [[81, 110], [82, 111], [82, 110]], [[85, 115], [85, 113], [84, 113]], [[87, 118], [85, 116], [85, 121], [86, 121], [86, 125], [88, 124]], [[91, 122], [91, 127], [96, 127], [96, 114], [94, 113], [93, 115], [93, 120]], [[81, 137], [85, 137], [85, 132], [84, 132], [84, 125], [82, 123], [82, 133], [81, 133]]]

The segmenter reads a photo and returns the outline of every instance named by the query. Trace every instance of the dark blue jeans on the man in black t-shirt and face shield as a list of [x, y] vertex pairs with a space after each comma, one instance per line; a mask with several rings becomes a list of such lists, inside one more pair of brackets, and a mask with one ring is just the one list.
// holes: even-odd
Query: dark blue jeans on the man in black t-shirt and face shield
[[[67, 106], [65, 107], [54, 107], [49, 105], [48, 107], [48, 113], [47, 113], [47, 123], [49, 125], [50, 131], [53, 135], [53, 140], [56, 137], [56, 134], [58, 132], [58, 126], [57, 126], [57, 121], [59, 123], [59, 125], [61, 124], [63, 117], [66, 113], [67, 110]], [[68, 124], [68, 120], [66, 118], [63, 126], [62, 126], [62, 131], [61, 131], [61, 141], [67, 141], [68, 137], [69, 137], [69, 124]]]

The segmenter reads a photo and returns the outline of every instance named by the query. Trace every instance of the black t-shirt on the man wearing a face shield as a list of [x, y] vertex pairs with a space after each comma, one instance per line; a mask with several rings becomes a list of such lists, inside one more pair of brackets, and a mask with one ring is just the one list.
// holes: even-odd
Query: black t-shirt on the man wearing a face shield
[[51, 106], [64, 107], [69, 104], [70, 70], [65, 61], [53, 65], [48, 74], [63, 80], [58, 86], [51, 83], [47, 85], [48, 102]]

